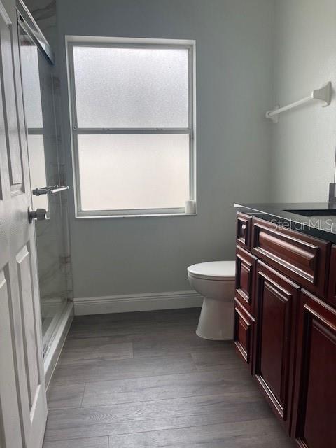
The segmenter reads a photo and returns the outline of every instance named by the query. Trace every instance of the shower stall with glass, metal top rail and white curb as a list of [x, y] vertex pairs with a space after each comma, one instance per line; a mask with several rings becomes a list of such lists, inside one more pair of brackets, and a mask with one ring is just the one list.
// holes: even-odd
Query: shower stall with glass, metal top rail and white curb
[[[45, 374], [72, 316], [67, 187], [59, 123], [59, 83], [48, 41], [21, 1], [18, 38], [35, 222]], [[55, 346], [56, 345], [56, 346]], [[58, 347], [58, 350], [60, 347]], [[48, 384], [49, 378], [46, 378]]]

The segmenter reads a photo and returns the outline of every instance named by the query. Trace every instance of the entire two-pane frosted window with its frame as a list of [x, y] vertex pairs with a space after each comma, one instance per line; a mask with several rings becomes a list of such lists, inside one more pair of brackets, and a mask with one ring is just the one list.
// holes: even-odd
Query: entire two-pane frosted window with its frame
[[194, 199], [194, 43], [145, 41], [69, 41], [77, 216], [181, 214]]

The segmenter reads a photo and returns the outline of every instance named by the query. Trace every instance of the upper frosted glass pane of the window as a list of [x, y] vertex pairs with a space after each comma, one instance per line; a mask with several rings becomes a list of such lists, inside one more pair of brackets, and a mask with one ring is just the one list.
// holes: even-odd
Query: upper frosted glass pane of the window
[[73, 46], [78, 127], [188, 127], [188, 52]]

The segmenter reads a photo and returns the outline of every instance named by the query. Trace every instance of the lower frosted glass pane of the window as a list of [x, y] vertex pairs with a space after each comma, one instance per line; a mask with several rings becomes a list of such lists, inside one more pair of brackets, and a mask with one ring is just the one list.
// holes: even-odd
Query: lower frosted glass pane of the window
[[188, 134], [79, 135], [83, 210], [184, 207]]

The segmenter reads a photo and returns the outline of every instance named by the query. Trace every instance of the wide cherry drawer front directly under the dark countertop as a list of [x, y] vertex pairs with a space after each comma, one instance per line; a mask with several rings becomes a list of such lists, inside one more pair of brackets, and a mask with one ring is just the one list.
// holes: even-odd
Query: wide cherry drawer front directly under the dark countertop
[[324, 295], [328, 242], [253, 218], [251, 246], [258, 258], [308, 290]]

